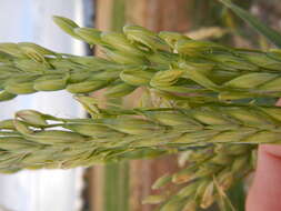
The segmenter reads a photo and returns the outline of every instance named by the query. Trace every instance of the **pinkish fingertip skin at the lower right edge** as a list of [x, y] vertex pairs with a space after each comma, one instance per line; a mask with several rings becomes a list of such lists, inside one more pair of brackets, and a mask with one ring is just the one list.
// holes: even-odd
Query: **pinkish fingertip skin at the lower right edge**
[[[281, 100], [277, 103], [281, 107]], [[281, 145], [262, 144], [247, 211], [281, 211]]]

